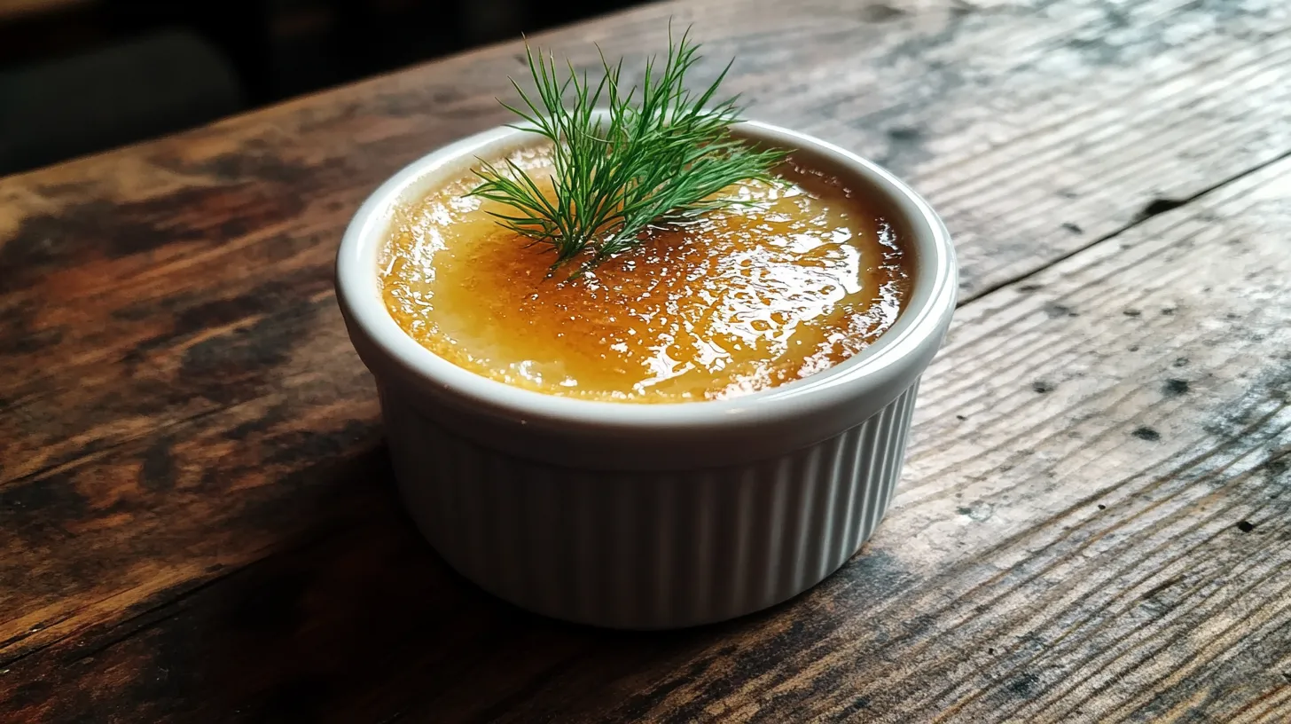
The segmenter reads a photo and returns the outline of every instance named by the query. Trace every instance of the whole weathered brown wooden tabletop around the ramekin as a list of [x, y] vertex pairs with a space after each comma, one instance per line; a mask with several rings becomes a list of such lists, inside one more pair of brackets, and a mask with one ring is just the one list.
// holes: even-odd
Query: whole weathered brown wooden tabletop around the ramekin
[[487, 48], [0, 180], [0, 720], [1291, 720], [1291, 4], [686, 0], [750, 115], [887, 164], [962, 306], [817, 590], [608, 634], [391, 489], [342, 226], [506, 116]]

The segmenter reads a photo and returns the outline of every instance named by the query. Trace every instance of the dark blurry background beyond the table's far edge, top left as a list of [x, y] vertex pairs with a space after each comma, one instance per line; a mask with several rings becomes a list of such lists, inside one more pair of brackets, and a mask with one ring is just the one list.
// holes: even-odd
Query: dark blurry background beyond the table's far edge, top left
[[0, 175], [640, 0], [0, 0]]

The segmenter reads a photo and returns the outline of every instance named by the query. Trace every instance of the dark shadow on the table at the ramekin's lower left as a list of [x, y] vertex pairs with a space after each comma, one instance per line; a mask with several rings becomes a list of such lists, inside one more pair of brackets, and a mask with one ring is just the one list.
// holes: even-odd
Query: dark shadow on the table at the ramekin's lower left
[[[669, 659], [764, 618], [634, 634], [528, 614], [434, 553], [399, 506], [383, 447], [363, 459], [315, 474], [364, 471], [334, 482], [367, 486], [373, 512], [195, 596], [152, 649], [165, 690], [141, 696], [252, 720], [563, 719], [643, 708], [648, 698], [631, 696], [649, 680], [634, 674], [669, 672]], [[633, 690], [616, 690], [625, 680]]]

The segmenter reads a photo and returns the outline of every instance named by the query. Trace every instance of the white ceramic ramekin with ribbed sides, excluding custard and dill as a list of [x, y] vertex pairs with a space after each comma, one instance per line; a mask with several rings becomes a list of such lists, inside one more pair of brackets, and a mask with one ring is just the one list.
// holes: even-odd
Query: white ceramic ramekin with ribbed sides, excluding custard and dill
[[745, 397], [554, 397], [469, 372], [399, 328], [377, 283], [392, 209], [532, 134], [498, 128], [414, 162], [346, 230], [337, 297], [377, 380], [404, 502], [435, 549], [487, 591], [598, 626], [709, 623], [815, 586], [883, 517], [919, 376], [954, 310], [950, 238], [918, 194], [852, 153], [763, 123], [738, 133], [887, 199], [914, 270], [905, 310], [864, 353]]

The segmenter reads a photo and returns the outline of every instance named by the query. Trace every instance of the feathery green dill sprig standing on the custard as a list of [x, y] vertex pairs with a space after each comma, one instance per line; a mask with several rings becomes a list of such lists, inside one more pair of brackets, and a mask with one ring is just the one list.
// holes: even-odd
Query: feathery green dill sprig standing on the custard
[[502, 168], [482, 162], [475, 173], [483, 182], [471, 195], [510, 207], [493, 216], [534, 243], [550, 244], [553, 270], [586, 252], [576, 275], [635, 246], [652, 226], [740, 203], [714, 194], [738, 181], [771, 181], [785, 151], [757, 149], [731, 134], [742, 109], [737, 97], [717, 101], [731, 63], [702, 93], [687, 90], [686, 74], [701, 58], [697, 50], [689, 31], [679, 43], [669, 32], [662, 71], [655, 58], [647, 59], [640, 88], [625, 92], [622, 59], [611, 65], [602, 53], [604, 75], [593, 85], [571, 62], [560, 79], [554, 56], [525, 45], [537, 97], [511, 80], [524, 109], [502, 105], [525, 120], [513, 128], [551, 144], [553, 193], [549, 198], [506, 159]]

